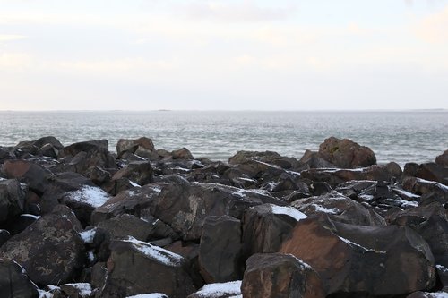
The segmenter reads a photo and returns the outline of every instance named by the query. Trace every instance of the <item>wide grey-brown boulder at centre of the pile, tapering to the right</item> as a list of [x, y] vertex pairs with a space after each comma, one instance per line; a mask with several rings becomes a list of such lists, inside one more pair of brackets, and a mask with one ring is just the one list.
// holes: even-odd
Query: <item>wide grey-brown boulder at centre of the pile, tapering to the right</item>
[[285, 205], [262, 191], [213, 183], [168, 184], [155, 200], [151, 212], [182, 234], [184, 240], [198, 240], [205, 217], [228, 215], [240, 219], [245, 209], [270, 202]]

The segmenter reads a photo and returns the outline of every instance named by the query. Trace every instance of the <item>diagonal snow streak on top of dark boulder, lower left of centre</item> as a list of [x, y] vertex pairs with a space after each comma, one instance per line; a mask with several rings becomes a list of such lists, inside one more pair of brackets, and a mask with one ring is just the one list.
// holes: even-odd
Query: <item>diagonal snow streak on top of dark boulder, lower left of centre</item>
[[141, 251], [152, 260], [157, 260], [167, 266], [176, 267], [183, 260], [183, 258], [176, 253], [164, 250], [161, 247], [151, 245], [150, 243], [144, 243], [132, 236], [128, 236], [127, 239], [123, 241], [133, 243], [138, 251]]

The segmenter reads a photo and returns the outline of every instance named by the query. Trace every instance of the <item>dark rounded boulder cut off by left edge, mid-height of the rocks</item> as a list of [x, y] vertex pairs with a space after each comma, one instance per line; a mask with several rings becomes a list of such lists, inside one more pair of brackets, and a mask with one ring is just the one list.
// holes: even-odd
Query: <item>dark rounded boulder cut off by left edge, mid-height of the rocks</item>
[[25, 194], [15, 179], [0, 181], [0, 224], [23, 212]]

